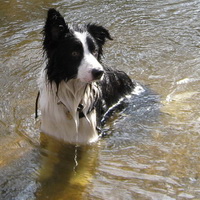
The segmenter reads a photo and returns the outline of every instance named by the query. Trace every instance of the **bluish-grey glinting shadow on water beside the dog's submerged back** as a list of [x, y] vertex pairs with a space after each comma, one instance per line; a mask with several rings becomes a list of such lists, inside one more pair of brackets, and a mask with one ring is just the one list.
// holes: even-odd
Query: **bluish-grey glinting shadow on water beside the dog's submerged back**
[[[113, 141], [115, 145], [116, 142], [126, 140], [125, 138], [129, 141], [132, 141], [133, 137], [140, 140], [142, 135], [148, 135], [153, 126], [159, 123], [159, 116], [162, 114], [160, 95], [148, 86], [138, 84], [138, 87], [141, 90], [139, 94], [127, 96], [104, 118], [105, 135], [122, 137], [122, 140], [118, 138]], [[124, 138], [123, 134], [126, 135]]]

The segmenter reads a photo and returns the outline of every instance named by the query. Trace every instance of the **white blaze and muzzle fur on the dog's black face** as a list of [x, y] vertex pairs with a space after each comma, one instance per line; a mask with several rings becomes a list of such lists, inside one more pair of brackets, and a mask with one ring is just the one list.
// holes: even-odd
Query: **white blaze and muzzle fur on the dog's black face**
[[88, 49], [87, 32], [74, 32], [74, 35], [82, 43], [84, 51], [83, 59], [78, 68], [77, 78], [80, 79], [82, 82], [89, 83], [93, 81], [92, 70], [103, 70], [103, 67]]

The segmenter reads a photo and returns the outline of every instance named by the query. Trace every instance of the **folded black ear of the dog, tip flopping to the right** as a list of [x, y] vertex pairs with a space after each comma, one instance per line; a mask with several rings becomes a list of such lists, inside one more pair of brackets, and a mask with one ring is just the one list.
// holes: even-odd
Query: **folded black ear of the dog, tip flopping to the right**
[[88, 24], [87, 30], [101, 47], [105, 44], [106, 39], [112, 40], [109, 31], [103, 26]]

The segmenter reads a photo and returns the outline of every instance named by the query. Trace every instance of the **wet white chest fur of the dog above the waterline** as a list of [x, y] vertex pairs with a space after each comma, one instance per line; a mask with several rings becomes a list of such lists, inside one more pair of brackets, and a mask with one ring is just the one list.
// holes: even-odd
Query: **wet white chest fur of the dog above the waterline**
[[[98, 139], [96, 111], [91, 108], [98, 88], [77, 79], [62, 81], [57, 88], [49, 83], [45, 70], [39, 79], [41, 131], [69, 143], [91, 143]], [[84, 117], [79, 118], [78, 106], [83, 106]]]

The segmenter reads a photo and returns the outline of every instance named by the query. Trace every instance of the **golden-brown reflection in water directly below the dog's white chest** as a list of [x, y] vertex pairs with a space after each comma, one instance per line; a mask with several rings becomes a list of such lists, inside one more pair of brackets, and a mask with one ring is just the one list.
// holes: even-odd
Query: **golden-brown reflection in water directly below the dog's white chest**
[[36, 199], [82, 199], [98, 164], [98, 145], [74, 146], [41, 134]]

